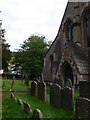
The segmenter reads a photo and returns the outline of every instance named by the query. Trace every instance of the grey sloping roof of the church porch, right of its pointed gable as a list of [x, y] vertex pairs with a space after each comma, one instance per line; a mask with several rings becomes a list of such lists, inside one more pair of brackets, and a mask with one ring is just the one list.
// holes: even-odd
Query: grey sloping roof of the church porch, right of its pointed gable
[[90, 61], [86, 50], [73, 42], [67, 46], [80, 74], [90, 74]]

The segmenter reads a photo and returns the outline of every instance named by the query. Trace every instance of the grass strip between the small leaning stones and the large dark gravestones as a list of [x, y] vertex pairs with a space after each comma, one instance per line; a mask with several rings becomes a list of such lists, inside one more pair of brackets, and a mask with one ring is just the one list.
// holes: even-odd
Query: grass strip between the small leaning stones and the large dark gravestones
[[17, 95], [17, 98], [20, 98], [28, 103], [30, 103], [32, 111], [36, 108], [40, 109], [43, 113], [44, 118], [73, 118], [74, 116], [71, 113], [65, 112], [62, 109], [56, 109], [51, 106], [49, 103], [49, 95], [47, 95], [47, 101], [41, 102], [37, 97], [31, 97], [27, 95]]

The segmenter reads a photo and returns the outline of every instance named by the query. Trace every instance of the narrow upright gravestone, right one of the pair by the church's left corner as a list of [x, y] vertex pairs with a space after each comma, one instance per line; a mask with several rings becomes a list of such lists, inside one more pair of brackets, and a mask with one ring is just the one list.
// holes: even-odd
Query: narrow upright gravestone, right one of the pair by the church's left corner
[[37, 84], [37, 96], [41, 101], [46, 101], [46, 84], [43, 81]]

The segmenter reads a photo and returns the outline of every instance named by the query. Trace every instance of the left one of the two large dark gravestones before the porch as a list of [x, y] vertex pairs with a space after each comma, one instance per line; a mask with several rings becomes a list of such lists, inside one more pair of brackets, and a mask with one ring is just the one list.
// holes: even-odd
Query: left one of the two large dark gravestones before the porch
[[58, 84], [50, 86], [50, 104], [56, 108], [61, 108], [61, 86]]

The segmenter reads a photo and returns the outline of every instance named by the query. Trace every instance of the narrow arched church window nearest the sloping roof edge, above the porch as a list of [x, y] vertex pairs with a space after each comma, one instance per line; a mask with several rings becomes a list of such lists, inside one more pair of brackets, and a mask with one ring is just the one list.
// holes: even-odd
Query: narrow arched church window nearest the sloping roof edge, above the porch
[[65, 35], [68, 42], [73, 42], [73, 27], [70, 20], [65, 23]]

